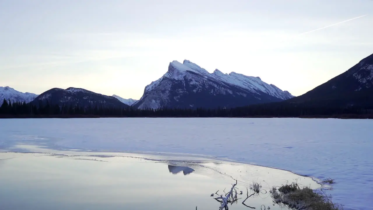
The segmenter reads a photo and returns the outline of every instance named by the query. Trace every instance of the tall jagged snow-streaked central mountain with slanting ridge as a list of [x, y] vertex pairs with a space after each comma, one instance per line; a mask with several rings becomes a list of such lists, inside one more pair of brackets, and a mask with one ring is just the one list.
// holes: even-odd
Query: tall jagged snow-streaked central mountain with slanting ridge
[[217, 108], [235, 107], [266, 102], [283, 101], [292, 96], [259, 77], [236, 72], [209, 73], [188, 60], [181, 64], [170, 62], [168, 71], [159, 80], [145, 87], [144, 95], [133, 105], [135, 108]]

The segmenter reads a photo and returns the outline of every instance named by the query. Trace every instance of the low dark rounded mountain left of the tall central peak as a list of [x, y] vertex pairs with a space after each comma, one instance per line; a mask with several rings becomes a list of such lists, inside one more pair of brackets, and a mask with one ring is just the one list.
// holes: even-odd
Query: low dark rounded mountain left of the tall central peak
[[49, 103], [51, 105], [78, 105], [79, 107], [105, 106], [128, 107], [112, 96], [106, 96], [82, 88], [69, 87], [68, 89], [53, 88], [41, 93], [32, 104], [39, 105]]

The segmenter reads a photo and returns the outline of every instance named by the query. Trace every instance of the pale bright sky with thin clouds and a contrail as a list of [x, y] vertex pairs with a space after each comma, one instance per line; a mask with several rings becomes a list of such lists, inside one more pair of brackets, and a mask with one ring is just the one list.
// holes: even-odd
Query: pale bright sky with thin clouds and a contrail
[[140, 99], [169, 62], [298, 96], [373, 53], [373, 0], [0, 0], [0, 86]]

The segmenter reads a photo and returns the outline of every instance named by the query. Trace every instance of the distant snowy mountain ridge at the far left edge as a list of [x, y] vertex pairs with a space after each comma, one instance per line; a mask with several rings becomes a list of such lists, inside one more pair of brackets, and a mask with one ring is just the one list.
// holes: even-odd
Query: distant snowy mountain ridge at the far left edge
[[4, 99], [10, 102], [31, 102], [34, 100], [38, 95], [34, 93], [22, 93], [19, 92], [11, 87], [0, 87], [0, 105], [3, 104]]

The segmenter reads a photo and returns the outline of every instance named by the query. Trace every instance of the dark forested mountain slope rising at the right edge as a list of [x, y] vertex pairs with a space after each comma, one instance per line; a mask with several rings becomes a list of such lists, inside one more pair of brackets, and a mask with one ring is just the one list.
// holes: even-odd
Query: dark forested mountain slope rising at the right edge
[[373, 106], [373, 54], [289, 103]]

